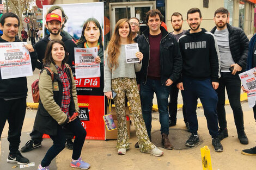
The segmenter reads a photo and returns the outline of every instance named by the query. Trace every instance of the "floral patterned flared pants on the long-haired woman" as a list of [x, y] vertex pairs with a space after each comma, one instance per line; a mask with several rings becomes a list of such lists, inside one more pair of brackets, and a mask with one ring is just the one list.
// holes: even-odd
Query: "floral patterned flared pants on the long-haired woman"
[[141, 99], [136, 79], [132, 78], [115, 78], [111, 81], [112, 90], [117, 93], [114, 98], [115, 111], [117, 112], [118, 137], [117, 148], [129, 149], [129, 135], [127, 134], [126, 115], [125, 115], [125, 94], [129, 100], [132, 115], [134, 118], [136, 136], [139, 141], [141, 152], [149, 152], [156, 146], [150, 142], [145, 122], [142, 117]]

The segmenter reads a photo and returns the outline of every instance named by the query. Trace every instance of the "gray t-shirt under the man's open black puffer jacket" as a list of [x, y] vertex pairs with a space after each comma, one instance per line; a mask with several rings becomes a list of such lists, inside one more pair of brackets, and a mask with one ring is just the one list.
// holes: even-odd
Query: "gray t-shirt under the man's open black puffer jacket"
[[235, 64], [235, 61], [232, 58], [229, 48], [228, 29], [216, 29], [214, 35], [221, 55], [221, 72], [230, 72], [228, 68], [230, 68], [232, 64]]

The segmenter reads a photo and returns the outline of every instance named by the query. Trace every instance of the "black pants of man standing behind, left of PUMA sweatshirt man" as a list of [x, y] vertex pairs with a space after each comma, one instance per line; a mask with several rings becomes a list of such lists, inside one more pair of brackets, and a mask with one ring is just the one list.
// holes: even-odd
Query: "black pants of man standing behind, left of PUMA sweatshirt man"
[[[173, 83], [170, 86], [170, 100], [169, 100], [168, 108], [169, 108], [170, 120], [175, 123], [177, 121], [178, 94], [179, 94], [179, 89], [176, 87], [176, 83]], [[184, 102], [182, 106], [182, 114], [183, 114], [184, 122], [186, 123], [187, 117], [186, 117], [186, 108], [185, 108]]]

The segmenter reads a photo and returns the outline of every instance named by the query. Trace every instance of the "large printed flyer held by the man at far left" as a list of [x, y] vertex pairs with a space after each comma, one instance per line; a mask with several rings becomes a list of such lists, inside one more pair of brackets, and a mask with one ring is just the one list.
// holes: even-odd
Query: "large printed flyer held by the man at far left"
[[27, 42], [7, 42], [0, 44], [2, 79], [33, 75], [31, 57], [25, 45], [27, 45]]

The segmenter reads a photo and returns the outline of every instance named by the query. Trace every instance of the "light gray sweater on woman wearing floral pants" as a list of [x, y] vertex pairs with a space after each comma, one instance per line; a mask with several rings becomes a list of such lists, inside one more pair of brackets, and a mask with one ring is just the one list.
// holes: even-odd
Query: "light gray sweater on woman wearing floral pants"
[[120, 55], [118, 56], [118, 67], [110, 71], [108, 65], [108, 54], [105, 55], [105, 65], [104, 65], [104, 89], [103, 92], [109, 92], [111, 90], [111, 80], [115, 78], [136, 78], [135, 72], [141, 70], [141, 63], [126, 63], [126, 55], [125, 55], [125, 46], [120, 46]]

